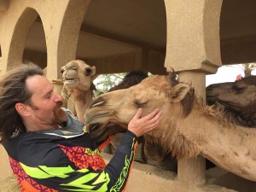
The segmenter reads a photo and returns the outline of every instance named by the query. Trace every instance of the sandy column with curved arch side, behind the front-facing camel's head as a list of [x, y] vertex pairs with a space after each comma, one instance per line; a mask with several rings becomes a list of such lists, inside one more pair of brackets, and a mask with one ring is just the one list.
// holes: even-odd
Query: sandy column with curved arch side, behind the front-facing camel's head
[[51, 66], [51, 70], [47, 71], [49, 79], [60, 76], [59, 69], [68, 61], [76, 58], [79, 29], [90, 0], [69, 0], [67, 2], [61, 15], [55, 17], [55, 23], [58, 25], [55, 27], [48, 25], [45, 29], [45, 35], [48, 37], [46, 38], [47, 63]]

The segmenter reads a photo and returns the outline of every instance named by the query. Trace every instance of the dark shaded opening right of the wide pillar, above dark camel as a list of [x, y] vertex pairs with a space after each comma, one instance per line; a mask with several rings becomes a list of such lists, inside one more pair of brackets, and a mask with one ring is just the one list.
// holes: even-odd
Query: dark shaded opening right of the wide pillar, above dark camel
[[255, 1], [223, 1], [219, 24], [223, 64], [256, 61], [255, 28]]

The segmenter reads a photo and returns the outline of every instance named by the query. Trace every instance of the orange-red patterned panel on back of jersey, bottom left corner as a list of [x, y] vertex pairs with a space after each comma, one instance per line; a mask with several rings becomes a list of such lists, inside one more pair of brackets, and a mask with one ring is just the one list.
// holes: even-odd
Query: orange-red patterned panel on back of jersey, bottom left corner
[[45, 187], [42, 184], [38, 184], [31, 177], [29, 177], [26, 172], [24, 172], [20, 163], [11, 157], [9, 157], [10, 166], [18, 179], [21, 192], [38, 192], [38, 191], [47, 191], [47, 192], [58, 192], [55, 189], [50, 189]]

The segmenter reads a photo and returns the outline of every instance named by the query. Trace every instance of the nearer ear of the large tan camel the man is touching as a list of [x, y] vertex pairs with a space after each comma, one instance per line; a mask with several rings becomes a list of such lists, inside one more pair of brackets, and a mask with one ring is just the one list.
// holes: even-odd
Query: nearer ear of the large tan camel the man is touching
[[187, 96], [190, 87], [188, 84], [177, 84], [170, 92], [170, 100], [172, 102], [181, 102]]

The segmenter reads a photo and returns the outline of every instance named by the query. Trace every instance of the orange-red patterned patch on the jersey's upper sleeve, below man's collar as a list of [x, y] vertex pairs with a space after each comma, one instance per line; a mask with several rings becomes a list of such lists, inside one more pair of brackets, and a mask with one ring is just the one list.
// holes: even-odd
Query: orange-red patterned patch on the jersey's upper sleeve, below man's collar
[[105, 161], [102, 159], [102, 155], [99, 150], [91, 150], [90, 148], [82, 147], [67, 147], [60, 145], [62, 151], [67, 155], [70, 161], [79, 169], [92, 168], [93, 170], [101, 169], [106, 167]]

